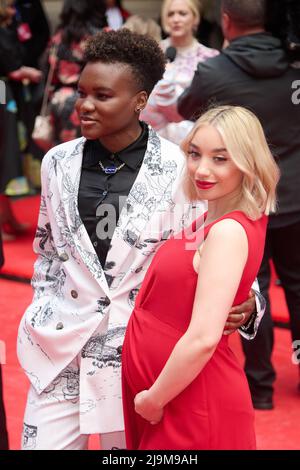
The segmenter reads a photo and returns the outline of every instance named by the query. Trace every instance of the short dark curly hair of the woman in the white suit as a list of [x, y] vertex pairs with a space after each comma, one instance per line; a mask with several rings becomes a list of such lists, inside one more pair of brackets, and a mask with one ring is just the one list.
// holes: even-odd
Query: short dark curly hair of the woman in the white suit
[[145, 90], [148, 95], [163, 77], [166, 66], [165, 56], [154, 39], [126, 28], [102, 31], [88, 39], [84, 62], [98, 61], [128, 65], [139, 91]]

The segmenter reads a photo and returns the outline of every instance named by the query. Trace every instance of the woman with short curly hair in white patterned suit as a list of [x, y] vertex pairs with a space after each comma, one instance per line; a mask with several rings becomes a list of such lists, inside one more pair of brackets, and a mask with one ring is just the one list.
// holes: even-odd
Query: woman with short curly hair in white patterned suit
[[[85, 449], [94, 433], [104, 449], [125, 447], [120, 365], [135, 296], [157, 248], [203, 211], [183, 197], [177, 146], [139, 120], [164, 72], [156, 42], [100, 33], [85, 55], [76, 103], [84, 137], [42, 163], [34, 298], [18, 337], [31, 382], [23, 449]], [[253, 309], [250, 299], [227, 328]]]

